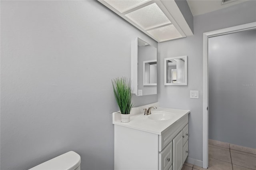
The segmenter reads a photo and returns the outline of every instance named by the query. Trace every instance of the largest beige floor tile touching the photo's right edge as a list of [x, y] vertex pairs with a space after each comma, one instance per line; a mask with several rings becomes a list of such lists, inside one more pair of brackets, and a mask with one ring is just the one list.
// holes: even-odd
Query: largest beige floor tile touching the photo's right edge
[[256, 158], [236, 152], [231, 152], [232, 164], [246, 168], [256, 169]]

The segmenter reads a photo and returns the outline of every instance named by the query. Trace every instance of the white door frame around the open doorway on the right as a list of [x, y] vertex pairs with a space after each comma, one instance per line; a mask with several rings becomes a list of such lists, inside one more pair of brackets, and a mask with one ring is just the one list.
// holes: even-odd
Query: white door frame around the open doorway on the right
[[203, 33], [203, 168], [208, 168], [208, 38], [256, 29], [256, 22]]

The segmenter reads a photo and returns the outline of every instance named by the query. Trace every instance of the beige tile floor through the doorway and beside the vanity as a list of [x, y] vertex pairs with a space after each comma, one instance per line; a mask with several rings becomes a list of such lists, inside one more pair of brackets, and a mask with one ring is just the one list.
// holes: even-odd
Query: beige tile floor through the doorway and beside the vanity
[[[256, 170], [255, 149], [241, 151], [237, 145], [210, 141], [208, 145], [208, 170]], [[184, 163], [182, 170], [205, 170], [204, 168]]]

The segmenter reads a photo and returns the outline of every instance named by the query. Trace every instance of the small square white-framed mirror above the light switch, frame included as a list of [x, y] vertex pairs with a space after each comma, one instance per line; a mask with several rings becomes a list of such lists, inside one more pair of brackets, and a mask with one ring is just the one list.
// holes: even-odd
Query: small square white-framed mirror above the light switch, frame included
[[164, 85], [188, 85], [188, 57], [164, 59]]

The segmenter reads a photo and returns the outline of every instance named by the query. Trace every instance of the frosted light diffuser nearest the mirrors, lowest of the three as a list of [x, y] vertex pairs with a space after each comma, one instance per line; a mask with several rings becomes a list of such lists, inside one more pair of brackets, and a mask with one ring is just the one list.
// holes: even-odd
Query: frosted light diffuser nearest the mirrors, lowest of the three
[[151, 34], [154, 38], [158, 39], [160, 42], [182, 37], [174, 25], [156, 28], [154, 30], [148, 31], [148, 33]]

